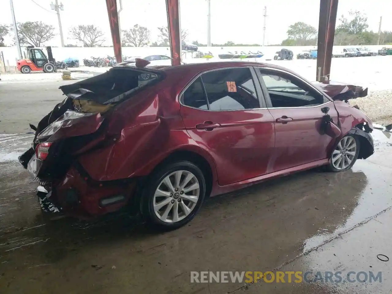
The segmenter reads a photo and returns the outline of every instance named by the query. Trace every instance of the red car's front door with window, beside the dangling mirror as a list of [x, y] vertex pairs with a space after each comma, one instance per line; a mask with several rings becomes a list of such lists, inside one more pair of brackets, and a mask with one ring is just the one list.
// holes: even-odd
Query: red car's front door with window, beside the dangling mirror
[[274, 171], [328, 158], [333, 139], [323, 134], [323, 107], [338, 121], [334, 103], [309, 83], [281, 70], [256, 68], [275, 121]]

